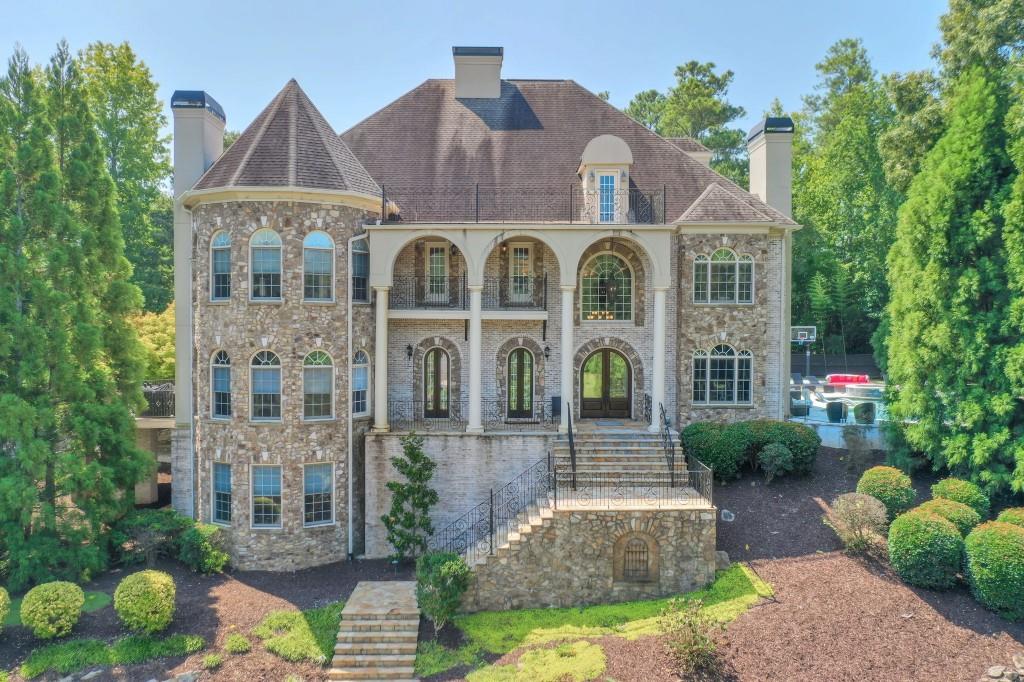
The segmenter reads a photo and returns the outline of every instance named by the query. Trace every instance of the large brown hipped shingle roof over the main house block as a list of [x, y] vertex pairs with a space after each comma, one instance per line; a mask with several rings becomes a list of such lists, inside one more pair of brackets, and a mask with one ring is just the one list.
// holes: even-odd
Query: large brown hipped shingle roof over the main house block
[[[573, 81], [501, 85], [499, 98], [457, 99], [455, 81], [425, 81], [341, 139], [402, 206], [410, 197], [451, 195], [477, 184], [503, 190], [579, 188], [577, 170], [587, 142], [611, 134], [633, 153], [631, 186], [657, 193], [665, 187], [666, 216], [682, 215], [716, 183], [719, 199], [701, 212], [709, 221], [767, 216], [795, 224]], [[723, 193], [734, 201], [722, 200]], [[443, 220], [444, 202], [436, 204], [436, 219]]]

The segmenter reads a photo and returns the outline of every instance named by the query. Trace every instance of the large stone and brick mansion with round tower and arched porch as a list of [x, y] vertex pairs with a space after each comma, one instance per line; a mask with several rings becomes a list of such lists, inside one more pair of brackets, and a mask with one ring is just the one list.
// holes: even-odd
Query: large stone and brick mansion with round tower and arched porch
[[786, 415], [793, 122], [751, 131], [748, 190], [571, 80], [453, 54], [340, 134], [294, 80], [227, 150], [213, 97], [173, 95], [172, 502], [238, 567], [387, 556], [410, 431], [442, 528], [570, 428]]

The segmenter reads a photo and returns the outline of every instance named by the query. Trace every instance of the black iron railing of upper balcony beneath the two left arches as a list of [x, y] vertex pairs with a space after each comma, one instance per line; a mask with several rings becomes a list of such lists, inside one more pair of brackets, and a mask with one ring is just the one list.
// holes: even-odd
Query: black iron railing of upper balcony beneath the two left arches
[[[483, 310], [547, 310], [548, 278], [484, 278], [481, 298]], [[397, 276], [388, 305], [392, 310], [468, 310], [469, 288], [465, 275]]]

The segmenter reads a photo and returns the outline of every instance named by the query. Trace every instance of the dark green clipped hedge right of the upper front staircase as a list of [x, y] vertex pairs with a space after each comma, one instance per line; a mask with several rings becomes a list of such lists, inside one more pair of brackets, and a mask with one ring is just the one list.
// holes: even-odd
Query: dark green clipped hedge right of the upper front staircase
[[758, 468], [758, 456], [768, 445], [784, 446], [788, 457], [771, 461], [775, 467], [772, 475], [806, 474], [814, 468], [821, 438], [814, 429], [795, 422], [756, 419], [731, 424], [696, 422], [680, 432], [683, 450], [715, 470], [719, 480], [737, 478], [743, 466]]

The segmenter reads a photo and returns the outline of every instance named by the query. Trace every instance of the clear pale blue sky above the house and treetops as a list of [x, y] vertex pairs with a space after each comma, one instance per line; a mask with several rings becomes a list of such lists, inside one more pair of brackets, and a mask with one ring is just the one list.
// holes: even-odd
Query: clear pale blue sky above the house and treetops
[[[160, 83], [204, 89], [243, 129], [289, 78], [344, 130], [427, 78], [451, 78], [452, 45], [502, 45], [503, 76], [570, 78], [625, 106], [664, 89], [676, 65], [735, 72], [750, 127], [778, 96], [787, 109], [840, 38], [859, 37], [882, 73], [930, 65], [944, 0], [676, 2], [312, 2], [34, 0], [3, 10], [0, 47], [36, 61], [60, 38], [74, 49], [129, 41]], [[169, 114], [169, 111], [168, 111]]]

